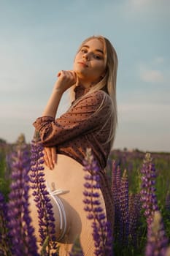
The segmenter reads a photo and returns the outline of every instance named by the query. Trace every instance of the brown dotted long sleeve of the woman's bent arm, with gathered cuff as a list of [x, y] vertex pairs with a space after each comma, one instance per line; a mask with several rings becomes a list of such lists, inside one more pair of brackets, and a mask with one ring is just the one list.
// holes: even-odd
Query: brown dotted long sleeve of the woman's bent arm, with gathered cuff
[[[103, 104], [106, 101], [105, 97], [104, 91], [95, 91], [82, 97], [60, 118], [55, 119], [50, 116], [37, 118], [34, 127], [39, 131], [43, 145], [57, 146], [101, 127], [110, 108], [110, 102]], [[101, 103], [102, 108], [100, 108]]]

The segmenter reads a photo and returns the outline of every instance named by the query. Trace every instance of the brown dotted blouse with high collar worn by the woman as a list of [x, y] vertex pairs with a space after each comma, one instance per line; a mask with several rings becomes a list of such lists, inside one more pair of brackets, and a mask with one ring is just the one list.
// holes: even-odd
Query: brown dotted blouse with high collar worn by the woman
[[[65, 154], [82, 164], [86, 148], [91, 148], [101, 172], [101, 191], [107, 208], [107, 217], [112, 221], [112, 196], [104, 167], [110, 151], [110, 113], [112, 102], [105, 91], [87, 94], [89, 89], [77, 86], [75, 100], [61, 117], [42, 116], [34, 127], [39, 131], [43, 146], [55, 146], [57, 154]], [[101, 106], [102, 103], [102, 106]]]

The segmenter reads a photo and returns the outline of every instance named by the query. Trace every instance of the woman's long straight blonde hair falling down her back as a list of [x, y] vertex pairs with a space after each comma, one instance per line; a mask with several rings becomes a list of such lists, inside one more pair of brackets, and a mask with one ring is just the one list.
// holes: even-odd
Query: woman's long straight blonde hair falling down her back
[[[96, 83], [96, 85], [92, 86], [90, 88], [90, 91], [88, 91], [87, 94], [90, 94], [94, 91], [98, 91], [102, 89], [104, 90], [107, 87], [107, 93], [112, 99], [112, 112], [110, 113], [110, 116], [109, 116], [109, 118], [111, 118], [112, 120], [112, 125], [111, 125], [110, 135], [107, 142], [110, 141], [110, 143], [112, 144], [115, 140], [115, 132], [117, 127], [117, 100], [116, 100], [116, 82], [117, 82], [117, 65], [118, 65], [117, 53], [115, 51], [115, 48], [112, 46], [111, 42], [109, 42], [109, 39], [102, 36], [88, 37], [82, 42], [78, 51], [82, 48], [82, 45], [85, 45], [85, 43], [90, 41], [91, 39], [99, 39], [104, 44], [104, 61], [105, 61], [106, 72], [104, 77], [101, 78], [101, 80], [98, 83]], [[75, 86], [71, 87], [72, 98], [74, 97], [74, 88]], [[85, 96], [87, 96], [87, 94], [85, 94]], [[104, 101], [101, 103], [100, 108], [102, 108], [103, 103]]]

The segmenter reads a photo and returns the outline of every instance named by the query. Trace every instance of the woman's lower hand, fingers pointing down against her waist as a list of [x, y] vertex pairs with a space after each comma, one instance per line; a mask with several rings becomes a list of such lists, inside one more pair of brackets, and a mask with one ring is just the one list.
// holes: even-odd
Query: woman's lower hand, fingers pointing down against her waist
[[45, 159], [45, 165], [50, 168], [50, 170], [53, 170], [55, 167], [55, 164], [57, 162], [57, 154], [56, 154], [56, 148], [50, 147], [44, 148], [44, 159]]

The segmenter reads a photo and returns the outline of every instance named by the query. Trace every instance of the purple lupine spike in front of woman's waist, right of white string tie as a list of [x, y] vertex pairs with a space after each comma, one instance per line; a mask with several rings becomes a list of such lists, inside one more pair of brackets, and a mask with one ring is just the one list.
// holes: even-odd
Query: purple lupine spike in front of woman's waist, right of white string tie
[[83, 161], [85, 173], [85, 211], [87, 218], [93, 219], [93, 240], [95, 246], [95, 255], [112, 256], [112, 228], [104, 214], [99, 200], [100, 194], [100, 176], [99, 168], [93, 159], [91, 149], [87, 148], [86, 157]]

